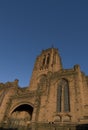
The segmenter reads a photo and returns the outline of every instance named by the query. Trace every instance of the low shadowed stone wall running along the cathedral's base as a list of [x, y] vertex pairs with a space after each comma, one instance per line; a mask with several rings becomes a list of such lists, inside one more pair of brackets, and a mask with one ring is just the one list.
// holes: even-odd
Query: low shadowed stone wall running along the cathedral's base
[[35, 124], [29, 128], [0, 128], [0, 130], [88, 130], [88, 124], [84, 125], [55, 125], [55, 124]]

